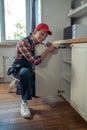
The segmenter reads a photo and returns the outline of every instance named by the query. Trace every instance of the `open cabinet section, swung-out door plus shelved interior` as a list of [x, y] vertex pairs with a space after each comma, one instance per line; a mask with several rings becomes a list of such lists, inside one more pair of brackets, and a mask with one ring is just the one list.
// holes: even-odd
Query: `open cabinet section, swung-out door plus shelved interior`
[[[36, 54], [41, 54], [45, 49], [44, 46], [39, 45]], [[70, 102], [71, 47], [69, 45], [62, 45], [53, 54], [48, 54], [35, 70], [37, 96], [60, 94]]]

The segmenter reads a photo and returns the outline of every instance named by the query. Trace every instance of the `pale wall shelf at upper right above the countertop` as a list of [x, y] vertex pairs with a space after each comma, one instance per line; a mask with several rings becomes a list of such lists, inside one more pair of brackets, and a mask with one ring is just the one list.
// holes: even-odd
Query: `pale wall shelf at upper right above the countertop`
[[81, 17], [87, 14], [87, 3], [73, 9], [69, 14], [68, 17]]

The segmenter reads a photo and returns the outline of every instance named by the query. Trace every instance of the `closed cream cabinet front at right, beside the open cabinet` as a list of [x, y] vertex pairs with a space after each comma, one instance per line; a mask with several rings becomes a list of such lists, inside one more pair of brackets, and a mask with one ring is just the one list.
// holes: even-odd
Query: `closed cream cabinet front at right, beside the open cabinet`
[[87, 121], [87, 43], [72, 45], [71, 105]]

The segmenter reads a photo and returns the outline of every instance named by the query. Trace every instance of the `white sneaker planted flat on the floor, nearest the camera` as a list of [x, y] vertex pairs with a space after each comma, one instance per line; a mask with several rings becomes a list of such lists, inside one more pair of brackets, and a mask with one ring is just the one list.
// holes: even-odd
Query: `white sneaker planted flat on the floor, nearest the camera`
[[28, 103], [21, 103], [21, 115], [24, 118], [29, 118], [31, 116], [31, 112], [28, 107]]

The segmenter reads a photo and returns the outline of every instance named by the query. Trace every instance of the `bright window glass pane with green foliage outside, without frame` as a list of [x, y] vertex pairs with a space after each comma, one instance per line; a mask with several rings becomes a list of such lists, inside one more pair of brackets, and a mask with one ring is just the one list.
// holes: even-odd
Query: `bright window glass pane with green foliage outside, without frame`
[[4, 0], [6, 40], [26, 36], [25, 0]]

